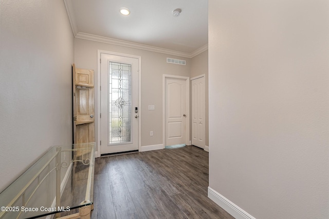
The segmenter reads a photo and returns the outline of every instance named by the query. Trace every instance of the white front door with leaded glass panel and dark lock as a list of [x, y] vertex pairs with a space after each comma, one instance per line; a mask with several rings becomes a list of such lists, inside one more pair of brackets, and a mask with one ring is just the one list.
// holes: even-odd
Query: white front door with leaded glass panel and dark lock
[[101, 154], [138, 150], [139, 59], [101, 53]]

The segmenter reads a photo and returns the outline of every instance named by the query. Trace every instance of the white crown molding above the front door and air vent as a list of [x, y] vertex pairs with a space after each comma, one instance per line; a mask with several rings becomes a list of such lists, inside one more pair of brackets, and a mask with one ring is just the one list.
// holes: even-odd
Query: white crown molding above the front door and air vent
[[[72, 29], [73, 29], [73, 27], [72, 27]], [[155, 46], [149, 46], [149, 45], [145, 45], [145, 44], [139, 44], [139, 43], [133, 43], [133, 42], [129, 42], [129, 41], [107, 38], [104, 36], [83, 33], [83, 32], [78, 32], [77, 34], [75, 34], [75, 37], [79, 38], [79, 39], [84, 39], [84, 40], [91, 40], [91, 41], [108, 43], [108, 44], [113, 44], [113, 45], [118, 45], [118, 46], [125, 46], [125, 47], [130, 47], [130, 48], [135, 48], [135, 49], [142, 49], [142, 50], [148, 50], [148, 51], [153, 51], [153, 52], [171, 54], [173, 56], [179, 56], [179, 57], [185, 57], [185, 58], [193, 58], [193, 57], [197, 56], [198, 54], [200, 54], [201, 52], [208, 49], [208, 44], [207, 44], [207, 45], [195, 50], [192, 53], [187, 53], [187, 52], [180, 52], [180, 51], [175, 51], [175, 50], [165, 49], [165, 48], [160, 48], [160, 47], [155, 47]]]

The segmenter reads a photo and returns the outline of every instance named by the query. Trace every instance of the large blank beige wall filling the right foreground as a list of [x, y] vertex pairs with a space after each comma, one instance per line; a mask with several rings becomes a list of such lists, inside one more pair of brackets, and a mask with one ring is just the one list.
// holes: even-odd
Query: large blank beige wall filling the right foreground
[[256, 218], [329, 218], [328, 9], [209, 0], [209, 186]]

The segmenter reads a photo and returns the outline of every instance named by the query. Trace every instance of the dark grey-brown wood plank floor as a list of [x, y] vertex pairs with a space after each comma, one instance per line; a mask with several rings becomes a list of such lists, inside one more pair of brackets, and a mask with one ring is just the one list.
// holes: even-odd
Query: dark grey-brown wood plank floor
[[96, 158], [92, 218], [233, 218], [207, 197], [194, 146]]

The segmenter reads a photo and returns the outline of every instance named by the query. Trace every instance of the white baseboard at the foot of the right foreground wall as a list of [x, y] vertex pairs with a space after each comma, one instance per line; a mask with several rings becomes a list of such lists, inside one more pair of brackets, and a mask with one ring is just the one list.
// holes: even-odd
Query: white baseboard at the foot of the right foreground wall
[[235, 219], [255, 219], [239, 206], [232, 203], [229, 199], [208, 187], [208, 197], [213, 200], [217, 205], [231, 214]]

